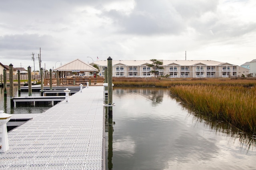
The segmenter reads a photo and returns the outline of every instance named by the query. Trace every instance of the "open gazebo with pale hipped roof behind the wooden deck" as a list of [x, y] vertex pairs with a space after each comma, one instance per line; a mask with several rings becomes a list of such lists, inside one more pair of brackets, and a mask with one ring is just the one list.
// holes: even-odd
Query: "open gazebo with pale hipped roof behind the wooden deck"
[[90, 64], [84, 63], [80, 59], [76, 59], [70, 63], [55, 68], [55, 71], [59, 71], [61, 77], [93, 76], [94, 73], [98, 72], [98, 69], [91, 66]]

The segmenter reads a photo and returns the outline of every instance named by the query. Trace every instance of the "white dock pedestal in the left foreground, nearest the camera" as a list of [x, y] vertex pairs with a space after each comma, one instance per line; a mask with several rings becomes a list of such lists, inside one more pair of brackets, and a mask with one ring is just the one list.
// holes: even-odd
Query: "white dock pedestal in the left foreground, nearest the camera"
[[0, 152], [6, 152], [9, 149], [6, 123], [11, 117], [12, 115], [0, 110]]

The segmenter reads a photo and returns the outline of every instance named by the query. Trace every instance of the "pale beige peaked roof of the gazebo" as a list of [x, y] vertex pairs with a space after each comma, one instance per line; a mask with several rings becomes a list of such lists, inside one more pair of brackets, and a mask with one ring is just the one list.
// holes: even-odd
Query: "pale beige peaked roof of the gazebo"
[[55, 70], [59, 71], [72, 71], [72, 70], [79, 70], [79, 71], [98, 71], [97, 68], [84, 63], [80, 59], [76, 59], [74, 61], [71, 61], [70, 63], [66, 63], [58, 68], [55, 68]]

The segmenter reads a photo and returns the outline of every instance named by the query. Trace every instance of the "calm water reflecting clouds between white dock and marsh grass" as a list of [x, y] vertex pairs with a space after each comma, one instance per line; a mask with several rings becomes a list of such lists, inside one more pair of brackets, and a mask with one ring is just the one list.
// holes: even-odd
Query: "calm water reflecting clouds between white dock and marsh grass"
[[167, 89], [114, 87], [113, 102], [106, 169], [256, 170], [255, 136], [191, 113]]

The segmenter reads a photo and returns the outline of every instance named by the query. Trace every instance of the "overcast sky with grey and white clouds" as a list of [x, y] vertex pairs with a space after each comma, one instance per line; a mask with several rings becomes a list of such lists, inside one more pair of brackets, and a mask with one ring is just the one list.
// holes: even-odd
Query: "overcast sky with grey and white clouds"
[[[255, 0], [1, 0], [0, 63], [256, 59]], [[91, 57], [91, 58], [90, 58]]]

